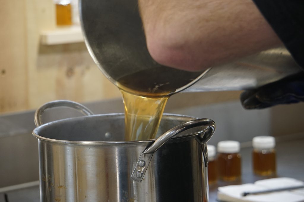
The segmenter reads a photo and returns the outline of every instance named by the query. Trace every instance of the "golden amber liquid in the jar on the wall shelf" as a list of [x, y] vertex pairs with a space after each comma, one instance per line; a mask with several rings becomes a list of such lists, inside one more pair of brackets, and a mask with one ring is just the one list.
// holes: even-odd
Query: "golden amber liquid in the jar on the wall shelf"
[[71, 4], [56, 4], [57, 25], [72, 25]]

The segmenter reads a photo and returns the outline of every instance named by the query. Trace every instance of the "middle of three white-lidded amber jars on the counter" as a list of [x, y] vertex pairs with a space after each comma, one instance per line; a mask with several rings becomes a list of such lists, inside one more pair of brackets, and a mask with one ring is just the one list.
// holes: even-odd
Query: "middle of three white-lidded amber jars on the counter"
[[220, 141], [217, 144], [217, 165], [219, 179], [235, 181], [241, 177], [240, 142]]

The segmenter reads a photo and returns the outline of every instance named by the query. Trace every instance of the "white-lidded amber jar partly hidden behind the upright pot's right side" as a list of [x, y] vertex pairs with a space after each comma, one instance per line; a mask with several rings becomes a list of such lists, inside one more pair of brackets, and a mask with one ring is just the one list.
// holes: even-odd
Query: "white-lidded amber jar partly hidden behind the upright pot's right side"
[[208, 183], [215, 184], [217, 182], [217, 165], [216, 165], [216, 148], [214, 145], [207, 144], [208, 150]]

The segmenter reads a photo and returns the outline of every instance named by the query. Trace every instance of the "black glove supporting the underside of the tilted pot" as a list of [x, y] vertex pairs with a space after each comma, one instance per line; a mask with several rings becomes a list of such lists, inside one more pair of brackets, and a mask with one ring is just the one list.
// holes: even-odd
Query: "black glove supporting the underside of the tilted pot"
[[277, 104], [304, 101], [304, 72], [254, 90], [244, 91], [240, 100], [245, 109], [262, 109]]

